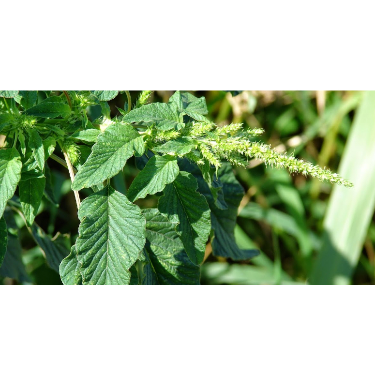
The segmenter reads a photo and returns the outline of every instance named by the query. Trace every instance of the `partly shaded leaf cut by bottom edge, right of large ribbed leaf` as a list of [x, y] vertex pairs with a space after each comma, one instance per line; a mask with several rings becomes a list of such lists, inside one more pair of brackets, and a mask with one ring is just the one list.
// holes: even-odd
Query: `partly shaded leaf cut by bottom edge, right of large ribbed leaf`
[[198, 285], [199, 266], [186, 255], [175, 225], [157, 209], [142, 210], [142, 213], [146, 217], [145, 255], [148, 261], [143, 284]]

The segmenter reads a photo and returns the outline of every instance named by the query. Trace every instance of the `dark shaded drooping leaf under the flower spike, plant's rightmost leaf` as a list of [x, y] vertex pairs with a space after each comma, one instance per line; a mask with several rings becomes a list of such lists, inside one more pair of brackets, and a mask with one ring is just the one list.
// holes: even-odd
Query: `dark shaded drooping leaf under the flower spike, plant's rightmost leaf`
[[213, 237], [211, 237], [213, 254], [230, 257], [233, 260], [250, 259], [258, 255], [259, 252], [257, 250], [241, 250], [234, 238], [237, 210], [244, 192], [242, 186], [236, 180], [231, 166], [225, 164], [218, 171], [218, 183], [223, 185], [225, 204], [228, 207], [226, 210], [221, 210], [215, 205], [210, 188], [196, 165], [185, 162], [180, 164], [180, 168], [194, 175], [198, 182], [198, 191], [206, 197], [210, 206], [213, 229]]

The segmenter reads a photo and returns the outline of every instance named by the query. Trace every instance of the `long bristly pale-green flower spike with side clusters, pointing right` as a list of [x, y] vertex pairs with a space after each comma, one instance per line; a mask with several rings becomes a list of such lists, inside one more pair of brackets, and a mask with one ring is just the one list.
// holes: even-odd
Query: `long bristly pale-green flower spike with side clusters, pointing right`
[[225, 159], [232, 165], [247, 167], [249, 159], [255, 158], [266, 165], [285, 168], [291, 173], [310, 175], [318, 180], [327, 180], [346, 187], [353, 186], [351, 182], [343, 179], [337, 173], [333, 173], [330, 169], [297, 159], [285, 152], [272, 150], [270, 145], [255, 141], [254, 137], [261, 135], [264, 130], [243, 129], [242, 123], [218, 126], [210, 121], [193, 121], [187, 123], [180, 131], [158, 131], [155, 133], [153, 131], [154, 129], [150, 132], [153, 142], [169, 141], [180, 136], [194, 139], [195, 150], [184, 155], [176, 153], [175, 155], [184, 156], [197, 165], [203, 165], [207, 160], [217, 169], [222, 165], [221, 160]]

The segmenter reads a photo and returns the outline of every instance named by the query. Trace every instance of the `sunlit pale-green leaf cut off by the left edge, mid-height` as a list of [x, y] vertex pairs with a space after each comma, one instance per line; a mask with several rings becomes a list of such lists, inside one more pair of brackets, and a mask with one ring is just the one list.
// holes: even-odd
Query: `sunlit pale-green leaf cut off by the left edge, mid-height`
[[0, 150], [0, 217], [4, 213], [6, 202], [15, 194], [21, 178], [21, 157], [17, 150]]

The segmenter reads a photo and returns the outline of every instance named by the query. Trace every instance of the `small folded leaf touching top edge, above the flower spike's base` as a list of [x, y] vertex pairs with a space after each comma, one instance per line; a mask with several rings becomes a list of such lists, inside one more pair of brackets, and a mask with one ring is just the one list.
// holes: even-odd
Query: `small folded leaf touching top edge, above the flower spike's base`
[[184, 113], [195, 120], [206, 120], [205, 115], [209, 113], [204, 96], [195, 97], [189, 92], [176, 91], [169, 99], [169, 104], [175, 104], [180, 113]]

